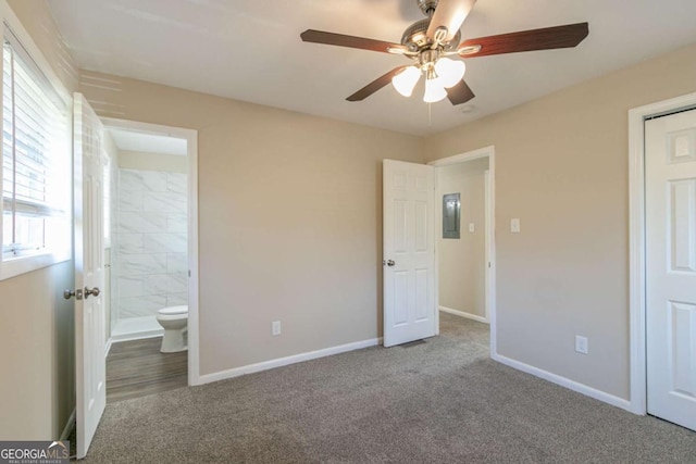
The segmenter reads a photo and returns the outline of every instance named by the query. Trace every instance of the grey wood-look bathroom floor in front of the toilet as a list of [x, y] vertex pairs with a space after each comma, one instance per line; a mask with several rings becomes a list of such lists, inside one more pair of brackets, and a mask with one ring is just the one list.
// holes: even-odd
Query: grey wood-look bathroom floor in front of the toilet
[[161, 353], [162, 337], [113, 343], [107, 356], [107, 402], [188, 385], [188, 351]]

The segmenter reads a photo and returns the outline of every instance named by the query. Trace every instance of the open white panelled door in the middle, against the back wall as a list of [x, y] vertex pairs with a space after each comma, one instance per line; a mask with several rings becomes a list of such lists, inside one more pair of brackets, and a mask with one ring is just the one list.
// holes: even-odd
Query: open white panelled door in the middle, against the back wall
[[384, 346], [435, 335], [435, 170], [384, 160]]

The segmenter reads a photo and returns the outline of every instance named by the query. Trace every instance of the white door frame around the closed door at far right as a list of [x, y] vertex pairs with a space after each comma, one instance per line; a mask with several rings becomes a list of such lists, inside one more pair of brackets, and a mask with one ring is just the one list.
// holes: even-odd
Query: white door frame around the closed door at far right
[[647, 414], [645, 121], [696, 108], [696, 92], [629, 110], [629, 411]]

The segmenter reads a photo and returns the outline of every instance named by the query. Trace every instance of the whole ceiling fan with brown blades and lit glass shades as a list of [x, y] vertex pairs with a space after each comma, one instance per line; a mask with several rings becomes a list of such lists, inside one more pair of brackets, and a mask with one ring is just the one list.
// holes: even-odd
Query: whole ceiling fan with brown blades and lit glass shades
[[459, 29], [476, 0], [415, 1], [427, 17], [409, 26], [403, 32], [400, 43], [314, 29], [300, 34], [302, 41], [306, 42], [402, 54], [413, 61], [412, 65], [395, 67], [377, 77], [346, 100], [364, 100], [389, 81], [399, 93], [410, 97], [421, 75], [424, 75], [423, 101], [432, 103], [447, 97], [452, 104], [465, 103], [474, 98], [474, 93], [463, 80], [464, 62], [447, 57], [457, 55], [469, 59], [521, 51], [571, 48], [577, 46], [589, 34], [587, 23], [577, 23], [460, 41]]

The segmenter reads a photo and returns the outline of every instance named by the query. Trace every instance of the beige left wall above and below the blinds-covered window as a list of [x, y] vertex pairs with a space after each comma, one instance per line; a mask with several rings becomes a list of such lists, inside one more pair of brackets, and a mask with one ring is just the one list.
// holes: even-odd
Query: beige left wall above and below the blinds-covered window
[[[69, 90], [70, 55], [46, 3], [10, 0]], [[57, 439], [75, 405], [74, 304], [62, 299], [73, 287], [66, 262], [0, 281], [0, 440]]]

